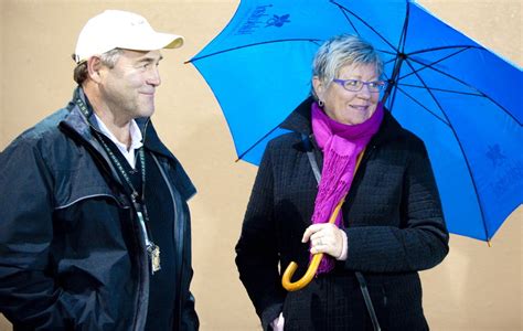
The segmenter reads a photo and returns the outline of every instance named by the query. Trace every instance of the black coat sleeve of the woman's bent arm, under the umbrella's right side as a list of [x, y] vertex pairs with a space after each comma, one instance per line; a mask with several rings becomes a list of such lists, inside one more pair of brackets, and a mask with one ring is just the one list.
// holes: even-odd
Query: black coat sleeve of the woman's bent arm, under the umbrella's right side
[[417, 271], [436, 266], [448, 253], [449, 235], [425, 145], [417, 138], [410, 142], [397, 206], [402, 225], [346, 228], [349, 269]]

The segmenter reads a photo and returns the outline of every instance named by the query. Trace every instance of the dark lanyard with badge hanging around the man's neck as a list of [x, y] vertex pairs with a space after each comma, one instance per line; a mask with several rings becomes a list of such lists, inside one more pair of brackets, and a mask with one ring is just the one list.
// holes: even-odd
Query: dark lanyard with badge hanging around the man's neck
[[[82, 114], [85, 116], [86, 119], [89, 117], [89, 110], [87, 109], [87, 106], [85, 105], [84, 100], [82, 98], [77, 97], [75, 99], [76, 105], [79, 107], [79, 110]], [[105, 151], [109, 156], [110, 160], [113, 161], [113, 164], [118, 169], [119, 173], [126, 181], [128, 188], [131, 191], [130, 199], [132, 202], [132, 205], [135, 206], [138, 220], [140, 221], [140, 226], [143, 232], [143, 237], [146, 239], [146, 249], [147, 253], [149, 254], [150, 258], [150, 266], [151, 266], [151, 274], [154, 274], [156, 271], [160, 270], [160, 247], [156, 245], [152, 239], [151, 239], [151, 232], [149, 231], [149, 214], [147, 212], [146, 207], [146, 202], [145, 202], [145, 194], [146, 194], [146, 152], [143, 151], [143, 147], [141, 147], [138, 150], [138, 157], [140, 159], [140, 166], [141, 166], [141, 195], [138, 193], [138, 191], [135, 189], [135, 185], [132, 185], [131, 180], [129, 179], [129, 175], [127, 174], [126, 170], [124, 169], [124, 166], [121, 166], [121, 162], [118, 160], [118, 158], [115, 156], [113, 150], [107, 146], [105, 142], [104, 138], [100, 136], [100, 134], [97, 130], [93, 130], [100, 141], [102, 146], [104, 147]]]

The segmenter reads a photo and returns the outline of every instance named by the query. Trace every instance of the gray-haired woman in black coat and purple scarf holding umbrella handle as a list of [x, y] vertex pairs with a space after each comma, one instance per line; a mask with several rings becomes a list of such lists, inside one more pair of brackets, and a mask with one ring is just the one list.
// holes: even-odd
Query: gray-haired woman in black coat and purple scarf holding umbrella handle
[[[281, 124], [291, 132], [267, 146], [236, 245], [265, 330], [428, 329], [417, 271], [444, 259], [448, 232], [423, 141], [378, 102], [382, 71], [360, 38], [327, 41], [312, 97]], [[295, 260], [303, 275], [309, 253], [327, 257], [317, 277], [287, 292], [282, 271]]]

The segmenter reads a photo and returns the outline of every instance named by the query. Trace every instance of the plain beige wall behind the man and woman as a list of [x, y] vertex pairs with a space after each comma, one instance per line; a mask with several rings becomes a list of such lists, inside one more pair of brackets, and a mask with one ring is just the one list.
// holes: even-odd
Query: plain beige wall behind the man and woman
[[[419, 2], [523, 64], [520, 1]], [[74, 88], [70, 54], [89, 17], [107, 8], [126, 9], [143, 14], [158, 30], [185, 35], [183, 49], [163, 52], [154, 122], [199, 188], [190, 205], [193, 291], [202, 330], [259, 328], [233, 260], [256, 168], [234, 163], [231, 136], [213, 94], [192, 65], [182, 64], [226, 24], [236, 4], [233, 0], [0, 0], [0, 149], [68, 100]], [[520, 207], [499, 231], [492, 248], [452, 236], [444, 264], [421, 274], [434, 330], [522, 329], [522, 218]], [[0, 321], [0, 330], [11, 328]]]

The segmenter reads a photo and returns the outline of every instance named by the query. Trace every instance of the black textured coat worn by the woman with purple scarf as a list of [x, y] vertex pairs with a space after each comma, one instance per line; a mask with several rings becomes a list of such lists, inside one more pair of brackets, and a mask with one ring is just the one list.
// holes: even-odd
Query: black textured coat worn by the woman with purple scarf
[[366, 147], [343, 205], [348, 258], [305, 289], [287, 292], [281, 274], [290, 261], [305, 274], [318, 185], [301, 134], [311, 137], [311, 99], [281, 125], [291, 132], [271, 140], [259, 166], [236, 245], [236, 265], [264, 329], [282, 311], [286, 330], [372, 330], [354, 271], [367, 284], [382, 330], [428, 329], [418, 270], [448, 253], [438, 190], [424, 142], [385, 111]]

